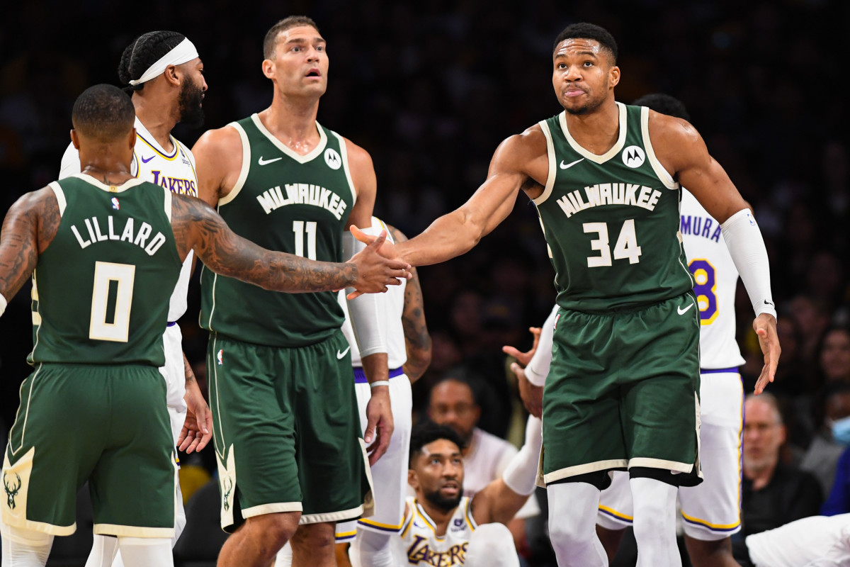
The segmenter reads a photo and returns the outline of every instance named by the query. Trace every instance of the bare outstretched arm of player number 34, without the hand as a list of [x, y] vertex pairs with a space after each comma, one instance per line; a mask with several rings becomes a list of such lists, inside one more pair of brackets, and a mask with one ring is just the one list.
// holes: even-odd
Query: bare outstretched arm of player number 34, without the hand
[[546, 139], [540, 127], [511, 136], [499, 145], [490, 170], [473, 196], [460, 208], [437, 218], [421, 235], [394, 247], [408, 264], [438, 264], [468, 252], [513, 210], [519, 190], [529, 196], [546, 184]]

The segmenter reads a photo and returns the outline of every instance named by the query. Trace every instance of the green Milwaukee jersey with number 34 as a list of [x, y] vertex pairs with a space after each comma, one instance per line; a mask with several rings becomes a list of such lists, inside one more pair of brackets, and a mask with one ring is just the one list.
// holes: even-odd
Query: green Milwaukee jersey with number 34
[[549, 174], [534, 202], [564, 309], [638, 308], [694, 284], [679, 235], [682, 191], [655, 157], [649, 109], [617, 108], [620, 135], [603, 156], [570, 136], [565, 112], [540, 122]]

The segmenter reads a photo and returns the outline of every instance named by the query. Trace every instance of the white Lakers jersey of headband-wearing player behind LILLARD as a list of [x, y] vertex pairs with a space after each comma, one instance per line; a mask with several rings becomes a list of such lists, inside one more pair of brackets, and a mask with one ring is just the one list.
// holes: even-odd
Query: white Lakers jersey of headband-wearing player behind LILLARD
[[[192, 152], [171, 136], [174, 146], [169, 154], [163, 150], [156, 139], [144, 128], [139, 117], [136, 117], [136, 145], [133, 148], [133, 162], [130, 164], [130, 173], [139, 179], [150, 181], [150, 183], [161, 185], [171, 190], [172, 193], [181, 195], [198, 196], [198, 176], [195, 175], [195, 156]], [[73, 144], [69, 145], [62, 156], [62, 165], [59, 168], [59, 179], [65, 179], [80, 173], [80, 154]], [[180, 269], [180, 277], [171, 300], [168, 303], [168, 320], [176, 321], [186, 312], [186, 293], [189, 290], [189, 277], [192, 269], [193, 252], [190, 250], [186, 255], [183, 268]]]

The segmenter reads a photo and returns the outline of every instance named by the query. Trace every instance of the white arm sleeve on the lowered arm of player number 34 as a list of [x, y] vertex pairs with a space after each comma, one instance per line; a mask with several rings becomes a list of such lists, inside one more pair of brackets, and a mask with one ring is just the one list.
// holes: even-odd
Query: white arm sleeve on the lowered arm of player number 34
[[720, 225], [723, 240], [744, 282], [756, 316], [768, 313], [776, 317], [776, 305], [770, 292], [770, 264], [762, 231], [750, 209], [742, 209]]

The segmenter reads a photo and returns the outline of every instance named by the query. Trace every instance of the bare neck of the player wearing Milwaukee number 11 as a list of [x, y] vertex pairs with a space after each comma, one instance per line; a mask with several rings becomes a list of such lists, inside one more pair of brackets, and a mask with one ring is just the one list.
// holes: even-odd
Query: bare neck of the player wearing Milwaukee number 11
[[285, 145], [304, 155], [319, 144], [316, 128], [319, 99], [285, 97], [275, 91], [271, 106], [259, 113], [260, 121], [269, 132]]

